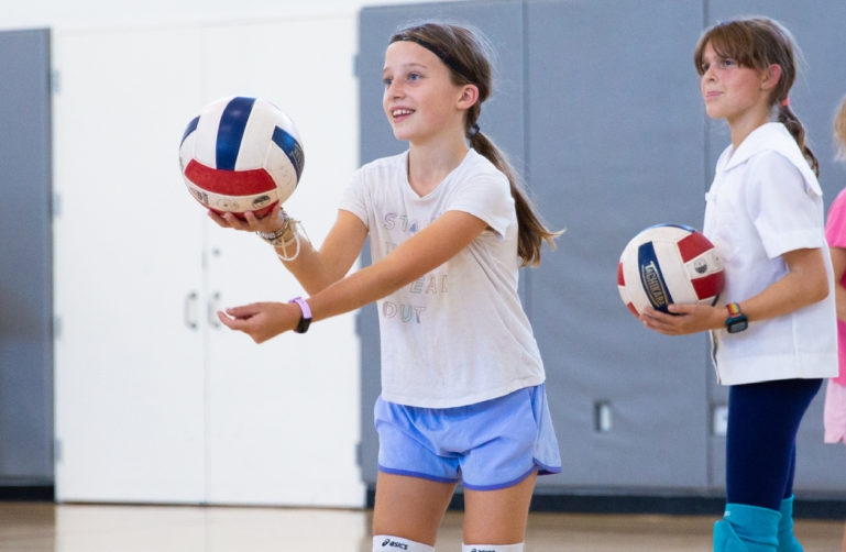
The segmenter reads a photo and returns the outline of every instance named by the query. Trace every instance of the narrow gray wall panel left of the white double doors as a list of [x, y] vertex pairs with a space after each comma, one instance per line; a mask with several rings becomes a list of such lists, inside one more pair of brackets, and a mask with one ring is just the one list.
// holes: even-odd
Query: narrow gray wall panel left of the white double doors
[[52, 484], [50, 33], [0, 33], [0, 484]]

